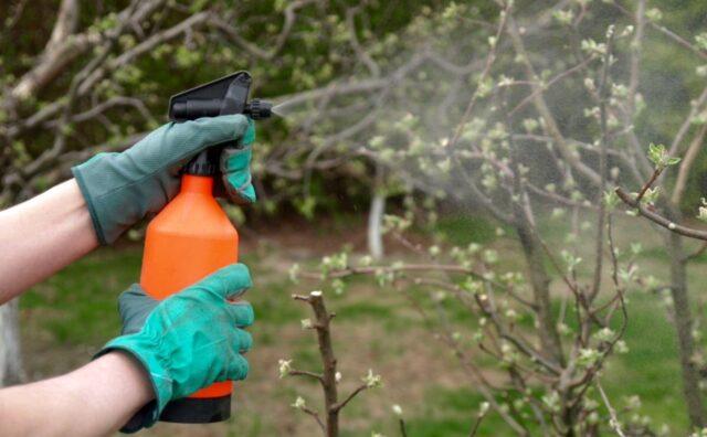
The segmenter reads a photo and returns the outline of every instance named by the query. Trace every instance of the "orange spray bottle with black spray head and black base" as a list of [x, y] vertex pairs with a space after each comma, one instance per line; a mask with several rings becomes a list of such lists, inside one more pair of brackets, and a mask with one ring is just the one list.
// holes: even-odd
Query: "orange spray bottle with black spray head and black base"
[[[238, 72], [177, 94], [169, 102], [169, 118], [183, 121], [226, 114], [270, 117], [268, 103], [246, 102], [250, 86], [251, 75]], [[215, 146], [184, 166], [180, 193], [147, 227], [140, 285], [155, 299], [165, 299], [238, 262], [239, 234], [213, 194], [220, 154], [221, 148]], [[231, 416], [232, 391], [233, 382], [226, 381], [172, 401], [160, 420], [225, 420]]]

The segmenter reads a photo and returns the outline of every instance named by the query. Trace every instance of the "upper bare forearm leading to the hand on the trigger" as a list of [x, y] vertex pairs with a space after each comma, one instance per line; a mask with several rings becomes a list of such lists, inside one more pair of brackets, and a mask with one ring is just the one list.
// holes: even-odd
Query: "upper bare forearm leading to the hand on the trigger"
[[75, 180], [0, 212], [0, 303], [98, 245]]

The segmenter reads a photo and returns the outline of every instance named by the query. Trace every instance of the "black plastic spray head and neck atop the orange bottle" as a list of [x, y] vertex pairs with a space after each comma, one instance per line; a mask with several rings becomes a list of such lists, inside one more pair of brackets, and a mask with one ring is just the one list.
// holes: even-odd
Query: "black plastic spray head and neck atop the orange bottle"
[[[254, 98], [247, 102], [252, 78], [247, 72], [238, 72], [196, 88], [175, 94], [169, 99], [169, 119], [196, 120], [229, 114], [245, 114], [254, 120], [268, 118], [273, 105]], [[187, 174], [213, 175], [219, 169], [221, 149], [212, 147], [196, 156], [183, 168]]]

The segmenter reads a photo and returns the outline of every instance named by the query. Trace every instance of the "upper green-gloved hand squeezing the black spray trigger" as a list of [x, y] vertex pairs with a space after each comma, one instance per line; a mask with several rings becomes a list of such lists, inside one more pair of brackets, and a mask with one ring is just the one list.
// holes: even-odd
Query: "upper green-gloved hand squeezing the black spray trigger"
[[159, 212], [179, 191], [181, 167], [212, 146], [225, 146], [225, 193], [238, 202], [255, 201], [250, 172], [254, 139], [253, 120], [243, 115], [169, 122], [122, 153], [98, 153], [72, 168], [101, 244]]

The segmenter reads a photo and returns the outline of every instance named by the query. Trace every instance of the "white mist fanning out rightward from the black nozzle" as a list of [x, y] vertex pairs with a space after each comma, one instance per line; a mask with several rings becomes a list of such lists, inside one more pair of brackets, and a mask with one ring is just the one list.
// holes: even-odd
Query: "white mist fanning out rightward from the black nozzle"
[[[412, 24], [374, 60], [368, 56], [377, 63], [378, 76], [371, 78], [371, 70], [361, 68], [344, 81], [279, 102], [273, 111], [312, 139], [315, 158], [362, 154], [383, 166], [390, 180], [461, 207], [478, 205], [481, 196], [511, 209], [508, 192], [518, 173], [537, 191], [531, 194], [544, 201], [542, 207], [557, 207], [547, 206], [553, 198], [591, 206], [598, 193], [558, 151], [539, 105], [567, 138], [569, 153], [598, 172], [594, 97], [601, 44], [606, 25], [618, 17], [609, 6], [598, 6], [585, 19], [587, 31], [576, 47], [555, 12], [528, 7], [516, 11], [516, 30], [537, 77], [530, 77], [520, 62], [508, 34], [510, 24], [496, 40], [497, 14], [484, 17], [471, 7], [454, 6], [452, 12]], [[486, 26], [468, 24], [474, 21], [485, 21]], [[625, 93], [630, 74], [632, 33], [626, 25], [616, 23], [622, 33], [611, 66], [616, 97]], [[485, 74], [489, 51], [493, 64]], [[541, 104], [532, 98], [537, 92], [531, 83], [542, 88]], [[650, 88], [663, 89], [665, 84]], [[466, 114], [472, 100], [473, 110]], [[612, 147], [627, 148], [627, 142], [619, 135]], [[626, 170], [610, 164], [612, 179], [621, 181]]]

